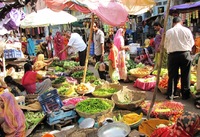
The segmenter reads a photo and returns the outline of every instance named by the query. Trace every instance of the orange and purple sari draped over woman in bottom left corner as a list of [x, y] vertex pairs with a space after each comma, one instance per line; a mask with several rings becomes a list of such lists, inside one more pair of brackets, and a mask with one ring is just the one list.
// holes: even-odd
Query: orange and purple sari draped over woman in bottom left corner
[[0, 116], [4, 117], [1, 125], [6, 137], [25, 137], [25, 117], [18, 106], [14, 96], [10, 92], [0, 95], [4, 108], [0, 110]]

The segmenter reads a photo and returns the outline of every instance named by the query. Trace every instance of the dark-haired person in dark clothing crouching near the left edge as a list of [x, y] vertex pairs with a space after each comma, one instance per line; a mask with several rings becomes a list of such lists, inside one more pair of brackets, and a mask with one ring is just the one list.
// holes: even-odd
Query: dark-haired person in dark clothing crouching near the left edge
[[4, 81], [8, 85], [8, 87], [11, 89], [10, 92], [14, 96], [23, 96], [23, 95], [26, 95], [25, 88], [21, 84], [15, 82], [11, 76], [6, 76], [4, 78]]

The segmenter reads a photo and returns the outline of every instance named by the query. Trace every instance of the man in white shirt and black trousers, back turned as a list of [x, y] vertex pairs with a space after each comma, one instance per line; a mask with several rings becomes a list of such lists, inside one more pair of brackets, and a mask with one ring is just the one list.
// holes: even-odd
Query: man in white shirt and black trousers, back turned
[[191, 31], [183, 26], [182, 19], [173, 19], [173, 28], [166, 32], [164, 48], [168, 53], [168, 89], [167, 99], [172, 94], [172, 83], [174, 82], [174, 95], [176, 94], [179, 79], [179, 68], [181, 70], [181, 94], [182, 99], [190, 98], [190, 52], [194, 46], [194, 39]]

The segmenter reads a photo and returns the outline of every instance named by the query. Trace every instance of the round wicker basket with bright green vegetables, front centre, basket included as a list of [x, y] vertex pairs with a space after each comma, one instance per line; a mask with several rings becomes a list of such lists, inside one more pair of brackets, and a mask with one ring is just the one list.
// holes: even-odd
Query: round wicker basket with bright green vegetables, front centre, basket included
[[76, 112], [81, 117], [96, 118], [97, 116], [109, 113], [115, 104], [112, 100], [103, 98], [88, 98], [76, 105]]

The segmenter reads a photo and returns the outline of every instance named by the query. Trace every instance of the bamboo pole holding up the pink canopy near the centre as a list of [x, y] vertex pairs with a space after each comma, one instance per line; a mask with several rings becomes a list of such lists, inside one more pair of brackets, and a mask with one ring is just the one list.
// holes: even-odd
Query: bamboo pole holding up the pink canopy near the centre
[[85, 82], [85, 77], [86, 77], [86, 72], [88, 68], [88, 58], [90, 54], [90, 45], [92, 43], [92, 29], [93, 29], [93, 24], [94, 24], [94, 14], [92, 14], [92, 21], [90, 25], [90, 36], [89, 36], [89, 41], [88, 41], [88, 46], [87, 46], [87, 54], [86, 54], [86, 59], [85, 59], [85, 68], [84, 68], [84, 73], [83, 73], [83, 83]]

